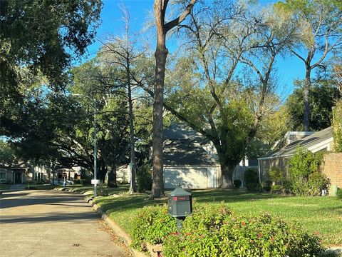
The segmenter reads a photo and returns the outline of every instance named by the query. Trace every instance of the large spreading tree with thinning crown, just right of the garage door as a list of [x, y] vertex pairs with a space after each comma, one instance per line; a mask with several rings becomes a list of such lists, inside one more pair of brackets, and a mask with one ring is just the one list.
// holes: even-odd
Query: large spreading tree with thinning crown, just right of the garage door
[[[254, 12], [252, 6], [231, 1], [197, 7], [181, 25], [192, 50], [181, 72], [195, 69], [201, 76], [196, 81], [196, 76], [178, 75], [181, 79], [167, 105], [212, 141], [221, 165], [221, 186], [230, 188], [235, 166], [274, 108], [276, 56], [291, 45], [294, 30], [284, 22], [286, 16], [269, 10]], [[249, 70], [246, 79], [242, 66]], [[186, 78], [190, 79], [181, 81]]]

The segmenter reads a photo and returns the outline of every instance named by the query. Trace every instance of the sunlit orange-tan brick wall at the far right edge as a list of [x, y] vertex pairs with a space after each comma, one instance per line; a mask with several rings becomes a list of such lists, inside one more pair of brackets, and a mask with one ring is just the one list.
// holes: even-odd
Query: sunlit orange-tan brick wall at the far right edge
[[331, 186], [342, 188], [342, 153], [328, 153], [324, 156], [323, 173], [330, 178]]

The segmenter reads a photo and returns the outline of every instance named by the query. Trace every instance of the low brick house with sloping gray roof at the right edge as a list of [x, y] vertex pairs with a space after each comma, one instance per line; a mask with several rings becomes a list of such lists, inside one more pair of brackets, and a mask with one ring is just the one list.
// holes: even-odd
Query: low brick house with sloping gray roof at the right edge
[[[286, 133], [289, 136], [291, 133]], [[293, 133], [292, 133], [293, 134]], [[296, 153], [299, 146], [313, 153], [331, 151], [333, 149], [333, 128], [328, 127], [316, 133], [297, 133], [300, 138], [287, 141], [282, 148], [271, 151], [258, 158], [259, 182], [269, 180], [269, 170], [273, 167], [281, 168], [284, 174], [288, 172], [289, 159]], [[284, 140], [282, 140], [284, 142]], [[331, 180], [331, 185], [342, 188], [342, 153], [328, 153], [324, 156], [323, 173]]]

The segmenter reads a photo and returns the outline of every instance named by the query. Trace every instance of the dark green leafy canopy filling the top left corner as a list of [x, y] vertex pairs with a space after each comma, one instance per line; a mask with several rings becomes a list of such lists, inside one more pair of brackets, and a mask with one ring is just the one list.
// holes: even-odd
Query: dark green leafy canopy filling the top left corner
[[1, 84], [14, 86], [17, 66], [61, 84], [71, 54], [81, 56], [92, 42], [101, 7], [100, 0], [1, 1]]

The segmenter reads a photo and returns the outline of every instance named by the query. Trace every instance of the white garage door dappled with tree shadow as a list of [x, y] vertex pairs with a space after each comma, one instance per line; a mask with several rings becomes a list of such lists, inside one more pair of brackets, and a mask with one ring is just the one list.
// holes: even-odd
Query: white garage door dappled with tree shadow
[[165, 168], [165, 188], [207, 188], [207, 168]]

